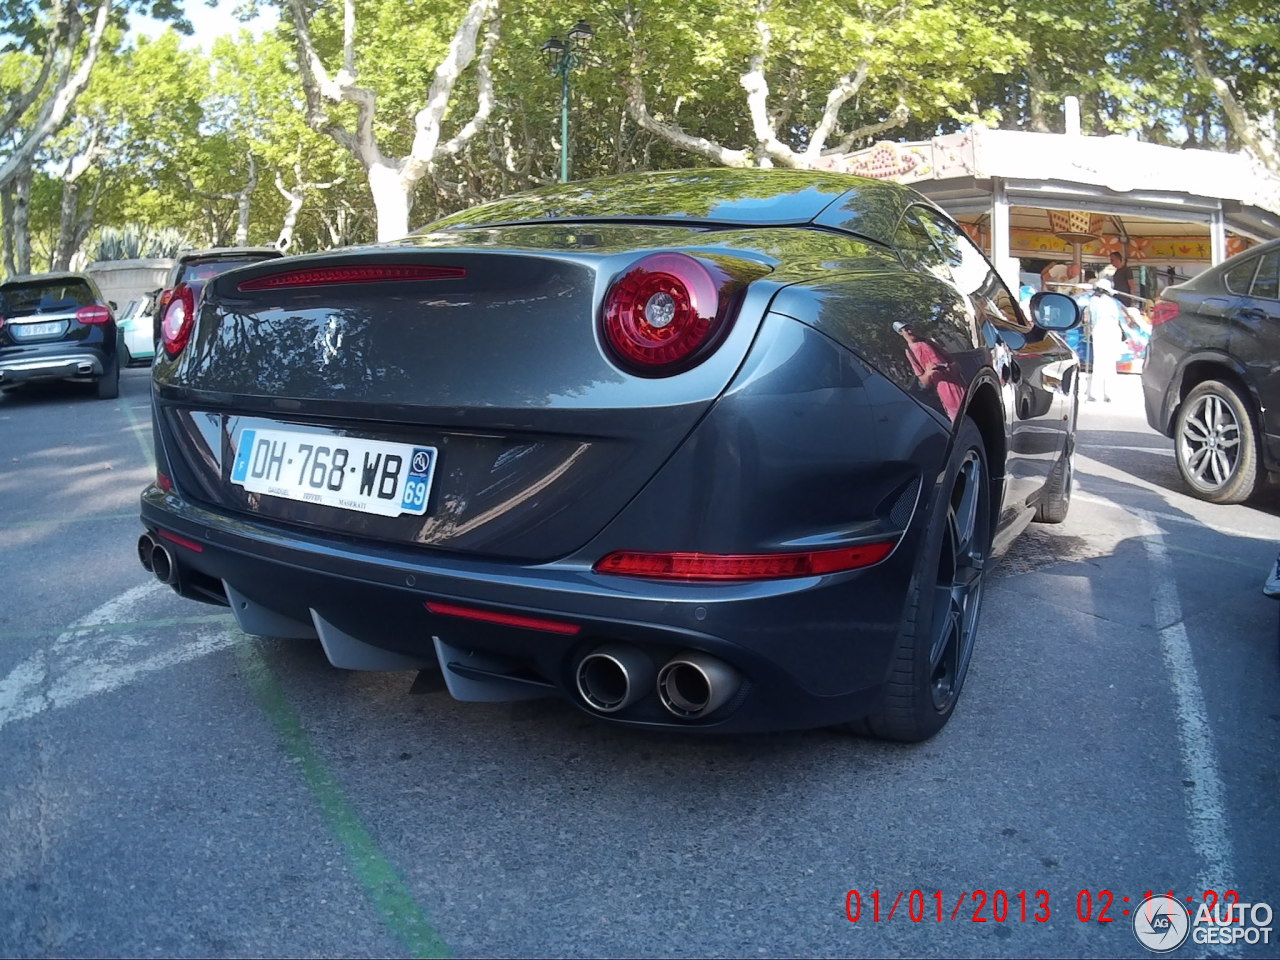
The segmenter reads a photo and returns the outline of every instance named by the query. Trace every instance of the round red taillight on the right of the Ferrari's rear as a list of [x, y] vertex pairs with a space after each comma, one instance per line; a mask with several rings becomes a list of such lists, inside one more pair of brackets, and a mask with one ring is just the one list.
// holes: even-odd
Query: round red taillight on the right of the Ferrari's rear
[[[714, 273], [713, 273], [714, 271]], [[654, 253], [613, 282], [604, 339], [634, 372], [660, 376], [694, 366], [728, 328], [728, 276], [685, 253]]]

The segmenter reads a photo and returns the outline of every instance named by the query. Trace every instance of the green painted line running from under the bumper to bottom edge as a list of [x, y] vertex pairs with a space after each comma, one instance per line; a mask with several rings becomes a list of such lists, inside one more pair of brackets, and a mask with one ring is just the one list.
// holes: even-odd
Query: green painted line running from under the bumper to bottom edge
[[360, 822], [342, 786], [311, 746], [298, 714], [262, 658], [257, 641], [244, 636], [236, 646], [236, 655], [253, 696], [280, 735], [288, 754], [298, 763], [330, 832], [342, 844], [352, 872], [387, 925], [413, 956], [448, 957], [449, 948], [428, 920], [426, 913]]

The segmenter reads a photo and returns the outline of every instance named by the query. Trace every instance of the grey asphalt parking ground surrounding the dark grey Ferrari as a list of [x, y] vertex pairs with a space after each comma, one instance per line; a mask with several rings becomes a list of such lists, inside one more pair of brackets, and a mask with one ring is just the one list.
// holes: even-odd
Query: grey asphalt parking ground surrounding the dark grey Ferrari
[[1117, 957], [1147, 891], [1280, 910], [1280, 498], [1187, 497], [1135, 378], [992, 575], [950, 726], [895, 746], [246, 637], [138, 566], [147, 376], [0, 398], [0, 955]]

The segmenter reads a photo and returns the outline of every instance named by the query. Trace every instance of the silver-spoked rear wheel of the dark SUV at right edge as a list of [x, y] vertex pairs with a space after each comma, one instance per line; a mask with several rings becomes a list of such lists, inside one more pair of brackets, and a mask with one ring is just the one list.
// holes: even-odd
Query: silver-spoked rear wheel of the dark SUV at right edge
[[1221, 380], [1197, 384], [1178, 407], [1178, 472], [1210, 503], [1243, 503], [1258, 484], [1258, 431], [1240, 392]]

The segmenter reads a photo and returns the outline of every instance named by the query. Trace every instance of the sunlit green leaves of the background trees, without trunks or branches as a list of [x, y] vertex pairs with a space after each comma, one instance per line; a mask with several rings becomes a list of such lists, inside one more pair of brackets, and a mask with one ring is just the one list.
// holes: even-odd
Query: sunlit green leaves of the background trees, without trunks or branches
[[[192, 0], [200, 3], [201, 0]], [[259, 0], [261, 6], [280, 0]], [[178, 15], [174, 0], [131, 3]], [[357, 0], [357, 82], [376, 93], [383, 151], [403, 155], [435, 64], [466, 0]], [[333, 68], [342, 60], [342, 4], [311, 0], [312, 31]], [[590, 58], [571, 73], [571, 165], [575, 178], [701, 166], [709, 161], [641, 129], [627, 113], [634, 70], [650, 113], [692, 136], [755, 151], [741, 78], [760, 50], [756, 15], [771, 35], [763, 61], [777, 137], [803, 151], [832, 88], [865, 70], [840, 110], [828, 147], [905, 105], [908, 122], [855, 138], [916, 140], [974, 122], [1007, 129], [1062, 128], [1062, 101], [1083, 102], [1087, 133], [1133, 133], [1175, 146], [1239, 148], [1219, 95], [1190, 69], [1185, 18], [1242, 109], [1275, 140], [1280, 111], [1280, 6], [1275, 0], [618, 0], [608, 6], [502, 0], [493, 63], [495, 109], [485, 132], [440, 161], [419, 188], [415, 221], [504, 196], [558, 175], [561, 79], [539, 47], [585, 15], [595, 28]], [[42, 19], [44, 17], [44, 19]], [[119, 24], [118, 24], [119, 26]], [[50, 36], [38, 3], [0, 0], [0, 108], [31, 84]], [[180, 28], [180, 24], [179, 24]], [[81, 205], [95, 198], [99, 227], [182, 230], [191, 244], [228, 242], [234, 195], [250, 183], [251, 243], [271, 243], [301, 189], [292, 251], [371, 239], [372, 205], [364, 170], [306, 122], [297, 50], [288, 18], [270, 31], [223, 37], [206, 54], [179, 28], [154, 40], [109, 33], [72, 122], [37, 159], [31, 204], [33, 243], [56, 237], [61, 170], [97, 143]], [[476, 76], [460, 81], [443, 140], [471, 119]], [[333, 109], [349, 127], [353, 108]], [[0, 151], [14, 131], [0, 131]], [[333, 184], [320, 188], [317, 184]], [[123, 242], [123, 241], [120, 241]]]

